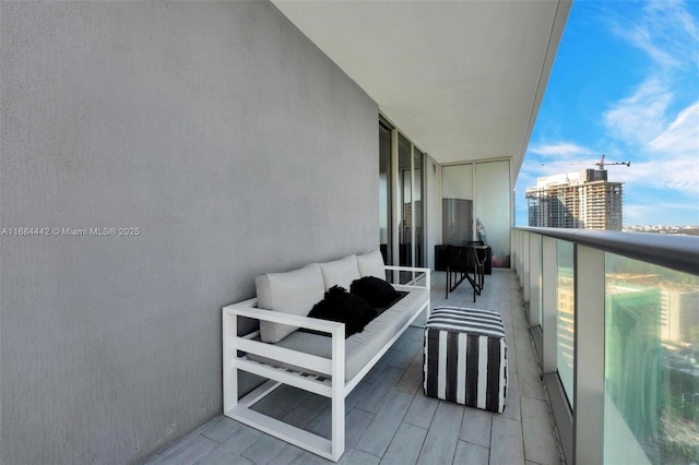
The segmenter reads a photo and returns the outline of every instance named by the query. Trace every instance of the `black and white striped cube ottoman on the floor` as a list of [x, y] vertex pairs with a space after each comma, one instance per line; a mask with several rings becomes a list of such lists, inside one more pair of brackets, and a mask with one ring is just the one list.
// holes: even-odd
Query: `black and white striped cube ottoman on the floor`
[[501, 413], [507, 342], [497, 312], [437, 307], [425, 327], [425, 395]]

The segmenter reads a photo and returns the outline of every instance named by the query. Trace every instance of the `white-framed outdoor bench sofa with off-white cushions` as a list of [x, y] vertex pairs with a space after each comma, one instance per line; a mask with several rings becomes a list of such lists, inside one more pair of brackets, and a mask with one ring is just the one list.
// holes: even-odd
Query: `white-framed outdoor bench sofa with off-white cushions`
[[[407, 294], [345, 339], [345, 324], [307, 317], [325, 290], [334, 285], [350, 289], [363, 276], [408, 276], [393, 284]], [[404, 281], [404, 279], [403, 279]], [[287, 273], [256, 279], [258, 297], [223, 308], [224, 414], [242, 424], [336, 462], [345, 449], [345, 397], [419, 315], [429, 317], [428, 269], [386, 266], [378, 250], [344, 259], [311, 263]], [[238, 318], [260, 321], [260, 330], [238, 335]], [[297, 331], [327, 333], [330, 337]], [[238, 371], [268, 381], [238, 398]], [[282, 384], [331, 398], [330, 439], [287, 425], [251, 407]]]

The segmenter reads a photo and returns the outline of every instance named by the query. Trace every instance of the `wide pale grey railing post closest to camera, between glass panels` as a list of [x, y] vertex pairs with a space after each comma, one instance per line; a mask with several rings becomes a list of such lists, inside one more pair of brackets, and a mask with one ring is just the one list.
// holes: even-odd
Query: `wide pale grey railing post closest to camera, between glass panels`
[[577, 464], [604, 458], [604, 252], [576, 246], [576, 350], [573, 456]]

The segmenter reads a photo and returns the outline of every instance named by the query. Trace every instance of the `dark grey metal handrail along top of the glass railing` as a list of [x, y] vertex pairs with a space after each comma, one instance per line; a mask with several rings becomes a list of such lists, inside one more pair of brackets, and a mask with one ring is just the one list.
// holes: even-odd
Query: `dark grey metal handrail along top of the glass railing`
[[628, 259], [699, 275], [699, 236], [570, 228], [517, 227], [514, 229], [562, 239]]

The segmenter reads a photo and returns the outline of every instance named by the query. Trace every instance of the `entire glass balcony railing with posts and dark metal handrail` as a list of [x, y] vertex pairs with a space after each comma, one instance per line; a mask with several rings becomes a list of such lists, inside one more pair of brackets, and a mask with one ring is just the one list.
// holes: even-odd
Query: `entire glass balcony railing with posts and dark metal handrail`
[[699, 463], [699, 237], [521, 228], [513, 245], [567, 461]]

